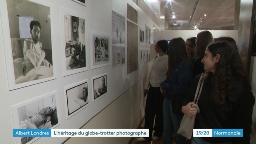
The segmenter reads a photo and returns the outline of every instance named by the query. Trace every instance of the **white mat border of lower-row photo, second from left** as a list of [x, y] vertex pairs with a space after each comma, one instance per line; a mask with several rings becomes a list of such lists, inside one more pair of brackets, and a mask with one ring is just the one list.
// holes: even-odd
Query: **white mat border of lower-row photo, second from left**
[[[71, 88], [75, 88], [76, 86], [79, 86], [79, 85], [81, 85], [81, 84], [84, 84], [84, 83], [86, 83], [87, 82], [87, 92], [88, 92], [88, 96], [87, 96], [87, 99], [88, 99], [88, 103], [87, 104], [85, 104], [84, 106], [82, 106], [82, 107], [80, 107], [80, 108], [78, 108], [78, 109], [76, 109], [74, 112], [72, 112], [71, 114], [68, 114], [68, 98], [67, 98], [67, 90], [69, 90], [69, 89], [71, 89]], [[71, 118], [72, 116], [74, 116], [75, 114], [77, 114], [78, 112], [80, 112], [81, 110], [83, 110], [84, 108], [86, 108], [87, 106], [89, 106], [89, 88], [88, 88], [89, 86], [88, 86], [88, 79], [86, 79], [86, 80], [82, 80], [82, 81], [80, 81], [80, 82], [77, 82], [77, 83], [75, 83], [75, 84], [71, 84], [71, 85], [69, 85], [69, 86], [66, 86], [65, 88], [64, 88], [64, 93], [65, 93], [65, 107], [66, 107], [66, 119], [68, 120], [69, 118]]]

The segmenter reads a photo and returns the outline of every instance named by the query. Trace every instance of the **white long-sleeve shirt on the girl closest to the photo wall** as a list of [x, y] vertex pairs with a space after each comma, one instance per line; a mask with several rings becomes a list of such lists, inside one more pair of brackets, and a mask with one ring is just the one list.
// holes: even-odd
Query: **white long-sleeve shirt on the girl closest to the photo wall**
[[152, 87], [160, 87], [161, 82], [166, 80], [166, 73], [168, 71], [168, 55], [158, 56], [154, 59], [152, 68], [148, 75], [145, 89], [148, 89], [149, 84]]

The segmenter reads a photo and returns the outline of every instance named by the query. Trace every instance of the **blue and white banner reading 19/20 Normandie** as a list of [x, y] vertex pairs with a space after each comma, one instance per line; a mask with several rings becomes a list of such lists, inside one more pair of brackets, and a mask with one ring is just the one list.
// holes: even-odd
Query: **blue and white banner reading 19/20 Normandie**
[[243, 137], [244, 129], [193, 129], [193, 137]]

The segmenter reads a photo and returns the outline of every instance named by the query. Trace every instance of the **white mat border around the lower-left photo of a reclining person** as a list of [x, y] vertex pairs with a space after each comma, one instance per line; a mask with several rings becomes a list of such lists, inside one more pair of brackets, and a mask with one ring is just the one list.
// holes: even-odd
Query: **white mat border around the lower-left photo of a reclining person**
[[[58, 92], [57, 92], [57, 90], [54, 90], [53, 92], [43, 94], [43, 95], [38, 96], [36, 98], [32, 98], [30, 100], [26, 100], [24, 102], [21, 102], [20, 104], [16, 104], [16, 105], [11, 106], [13, 128], [18, 128], [18, 129], [20, 128], [20, 124], [19, 124], [20, 122], [19, 122], [19, 118], [18, 118], [18, 108], [20, 108], [22, 106], [26, 106], [27, 104], [31, 104], [31, 103], [39, 101], [39, 100], [43, 100], [44, 98], [48, 98], [48, 97], [53, 96], [53, 95], [55, 95], [55, 98], [56, 98], [56, 109], [57, 109], [57, 116], [58, 116], [58, 124], [54, 125], [51, 129], [54, 129], [57, 126], [59, 126], [61, 124], [60, 106], [59, 106], [59, 103], [58, 103]], [[22, 137], [16, 137], [15, 138], [16, 144], [21, 144], [21, 138]], [[30, 140], [29, 142], [27, 142], [26, 144], [31, 144], [31, 143], [35, 142], [36, 140], [38, 140], [39, 138], [41, 138], [41, 137], [35, 137], [32, 140]]]

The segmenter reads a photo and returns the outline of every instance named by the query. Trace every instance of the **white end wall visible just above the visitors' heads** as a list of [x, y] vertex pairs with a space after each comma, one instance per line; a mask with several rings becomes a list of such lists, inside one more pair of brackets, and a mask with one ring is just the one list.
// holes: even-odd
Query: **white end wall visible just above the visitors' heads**
[[[161, 31], [160, 39], [171, 40], [172, 38], [181, 37], [185, 41], [189, 37], [196, 37], [196, 35], [202, 30], [164, 30]], [[212, 33], [213, 38], [220, 36], [230, 36], [234, 40], [238, 41], [238, 30], [209, 30]]]

